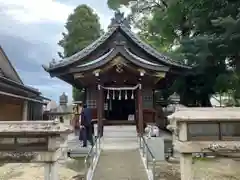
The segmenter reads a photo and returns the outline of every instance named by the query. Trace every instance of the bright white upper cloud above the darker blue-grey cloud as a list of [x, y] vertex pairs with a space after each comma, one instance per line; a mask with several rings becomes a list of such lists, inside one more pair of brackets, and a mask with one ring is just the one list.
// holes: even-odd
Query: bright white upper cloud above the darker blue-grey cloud
[[[88, 1], [82, 3], [87, 3]], [[95, 0], [92, 0], [95, 1]], [[90, 2], [90, 1], [89, 1]], [[0, 0], [0, 32], [19, 36], [29, 41], [52, 44], [54, 49], [62, 38], [64, 24], [76, 6], [54, 0]], [[93, 3], [93, 2], [92, 2]], [[96, 5], [96, 3], [94, 4]], [[92, 4], [89, 4], [92, 7]], [[107, 29], [112, 12], [103, 11], [103, 5], [92, 7]], [[59, 47], [57, 50], [59, 51]]]

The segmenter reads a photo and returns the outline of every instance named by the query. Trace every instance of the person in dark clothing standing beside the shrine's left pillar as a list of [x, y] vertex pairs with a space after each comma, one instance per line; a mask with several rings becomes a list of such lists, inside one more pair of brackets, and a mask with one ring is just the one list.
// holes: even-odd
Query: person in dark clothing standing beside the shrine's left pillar
[[92, 114], [91, 109], [87, 108], [87, 105], [83, 106], [81, 114], [81, 130], [82, 130], [82, 139], [83, 147], [87, 147], [87, 140], [93, 146], [93, 136], [92, 136]]

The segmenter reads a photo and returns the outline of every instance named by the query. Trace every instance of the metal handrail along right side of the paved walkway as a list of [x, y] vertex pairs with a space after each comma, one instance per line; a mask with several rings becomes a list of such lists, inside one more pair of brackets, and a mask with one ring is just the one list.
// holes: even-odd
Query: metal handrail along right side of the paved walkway
[[[142, 150], [143, 157], [146, 158], [146, 166], [147, 169], [149, 168], [149, 162], [152, 161], [152, 180], [156, 180], [156, 158], [153, 155], [152, 151], [150, 150], [145, 138], [143, 136], [139, 136], [139, 148]], [[151, 156], [151, 160], [149, 160], [148, 154]]]

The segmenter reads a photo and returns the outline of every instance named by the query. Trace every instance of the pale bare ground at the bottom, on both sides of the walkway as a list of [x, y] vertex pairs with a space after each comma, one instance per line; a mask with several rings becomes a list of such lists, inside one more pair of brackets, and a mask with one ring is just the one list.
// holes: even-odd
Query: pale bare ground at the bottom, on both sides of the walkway
[[[230, 159], [201, 159], [193, 164], [193, 180], [240, 180], [240, 161]], [[68, 159], [59, 164], [60, 180], [80, 180], [83, 160]], [[158, 180], [180, 180], [179, 163], [158, 163]], [[42, 164], [0, 164], [0, 180], [43, 180]]]

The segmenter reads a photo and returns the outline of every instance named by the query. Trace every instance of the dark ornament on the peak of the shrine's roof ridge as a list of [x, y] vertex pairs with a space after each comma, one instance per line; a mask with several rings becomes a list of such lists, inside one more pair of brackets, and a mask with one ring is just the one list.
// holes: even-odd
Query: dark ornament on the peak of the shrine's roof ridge
[[114, 17], [111, 19], [111, 24], [109, 27], [125, 25], [127, 28], [131, 28], [129, 19], [124, 17], [124, 13], [117, 10], [114, 13]]

